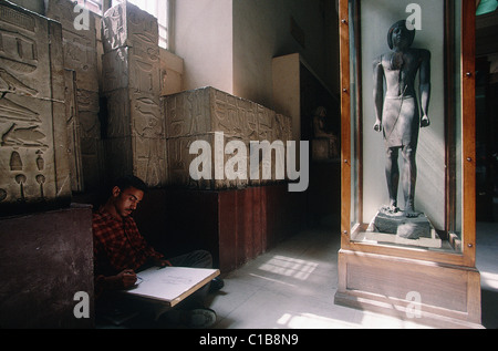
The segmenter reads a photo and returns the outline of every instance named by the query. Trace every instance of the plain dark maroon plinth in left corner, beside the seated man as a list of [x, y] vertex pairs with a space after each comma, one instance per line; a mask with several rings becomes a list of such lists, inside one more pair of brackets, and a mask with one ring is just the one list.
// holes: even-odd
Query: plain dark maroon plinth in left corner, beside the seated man
[[[91, 208], [3, 218], [0, 228], [0, 328], [93, 328]], [[87, 318], [74, 316], [80, 291]]]

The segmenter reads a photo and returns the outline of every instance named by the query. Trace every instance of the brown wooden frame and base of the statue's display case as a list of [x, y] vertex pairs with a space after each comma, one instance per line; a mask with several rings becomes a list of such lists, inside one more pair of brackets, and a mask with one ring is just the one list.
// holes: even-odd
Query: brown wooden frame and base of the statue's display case
[[[394, 0], [393, 0], [394, 1]], [[454, 0], [444, 2], [445, 30], [455, 25], [452, 23]], [[415, 249], [413, 247], [386, 246], [352, 240], [351, 208], [355, 198], [352, 196], [352, 159], [357, 159], [359, 173], [362, 174], [361, 152], [352, 149], [351, 128], [354, 125], [362, 128], [362, 124], [353, 124], [356, 116], [351, 113], [355, 103], [350, 89], [355, 87], [351, 82], [352, 56], [360, 55], [361, 48], [350, 50], [350, 21], [357, 22], [354, 8], [357, 11], [361, 0], [340, 0], [340, 55], [341, 55], [341, 157], [342, 157], [342, 188], [341, 188], [341, 250], [339, 252], [339, 289], [335, 302], [339, 304], [370, 309], [383, 313], [407, 318], [413, 302], [406, 292], [422, 293], [422, 301], [416, 301], [419, 320], [437, 327], [480, 327], [480, 277], [476, 269], [476, 148], [475, 148], [475, 13], [474, 0], [461, 1], [460, 19], [460, 107], [461, 107], [461, 172], [459, 189], [461, 192], [461, 208], [455, 208], [452, 200], [454, 179], [446, 173], [445, 184], [445, 217], [452, 220], [456, 210], [461, 210], [461, 242], [460, 250], [455, 252]], [[361, 11], [361, 10], [360, 10]], [[375, 13], [369, 13], [375, 16]], [[356, 23], [355, 23], [356, 24]], [[357, 35], [357, 33], [354, 33]], [[357, 40], [354, 41], [357, 43]], [[452, 52], [452, 40], [445, 38], [445, 52]], [[450, 66], [450, 55], [446, 54], [446, 66]], [[450, 74], [445, 74], [445, 84], [453, 84]], [[361, 94], [361, 92], [360, 92]], [[445, 89], [446, 94], [446, 89]], [[445, 96], [445, 109], [454, 109], [450, 96]], [[361, 112], [360, 112], [361, 113]], [[449, 127], [454, 127], [449, 125]], [[362, 131], [357, 131], [362, 133]], [[446, 143], [452, 143], [450, 133], [445, 135]], [[362, 134], [360, 134], [362, 135]], [[361, 138], [361, 137], [360, 137]], [[361, 141], [360, 141], [361, 143]], [[362, 147], [359, 148], [360, 151]], [[446, 155], [448, 158], [448, 155]], [[446, 162], [449, 162], [446, 159]], [[454, 161], [453, 161], [454, 162]], [[452, 183], [453, 182], [453, 183]], [[362, 192], [362, 182], [359, 182]], [[360, 198], [362, 198], [360, 196]], [[362, 207], [361, 200], [354, 206]], [[447, 225], [448, 226], [448, 225]]]

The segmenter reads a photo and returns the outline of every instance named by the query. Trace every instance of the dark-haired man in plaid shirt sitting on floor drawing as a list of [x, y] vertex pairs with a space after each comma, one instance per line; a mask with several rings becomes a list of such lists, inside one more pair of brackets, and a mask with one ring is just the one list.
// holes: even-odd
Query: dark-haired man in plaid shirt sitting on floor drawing
[[[132, 288], [136, 272], [149, 267], [191, 267], [212, 268], [211, 255], [204, 250], [193, 251], [179, 257], [166, 259], [147, 244], [139, 234], [132, 217], [142, 202], [147, 186], [135, 176], [126, 176], [115, 182], [106, 203], [93, 214], [94, 273], [97, 312], [131, 306], [129, 300], [120, 299], [113, 293]], [[222, 280], [214, 279], [188, 301], [188, 310], [178, 317], [186, 327], [206, 328], [216, 321], [216, 313], [204, 307], [207, 291], [222, 287]], [[144, 306], [141, 307], [143, 309]], [[167, 313], [166, 313], [167, 314]], [[176, 313], [178, 314], [178, 313]]]

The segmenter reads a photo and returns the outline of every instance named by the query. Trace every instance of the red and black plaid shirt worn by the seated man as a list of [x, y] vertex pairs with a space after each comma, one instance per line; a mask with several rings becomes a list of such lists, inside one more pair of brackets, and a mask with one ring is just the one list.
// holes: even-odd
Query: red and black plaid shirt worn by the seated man
[[97, 279], [117, 275], [125, 269], [136, 271], [152, 258], [164, 258], [146, 242], [132, 217], [120, 220], [100, 210], [93, 214], [92, 229]]

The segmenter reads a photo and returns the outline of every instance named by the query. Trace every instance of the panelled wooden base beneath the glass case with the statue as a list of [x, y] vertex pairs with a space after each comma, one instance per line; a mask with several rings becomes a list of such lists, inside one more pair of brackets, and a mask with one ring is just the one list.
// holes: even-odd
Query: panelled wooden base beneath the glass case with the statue
[[341, 249], [335, 303], [436, 328], [483, 328], [477, 269]]

